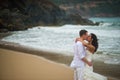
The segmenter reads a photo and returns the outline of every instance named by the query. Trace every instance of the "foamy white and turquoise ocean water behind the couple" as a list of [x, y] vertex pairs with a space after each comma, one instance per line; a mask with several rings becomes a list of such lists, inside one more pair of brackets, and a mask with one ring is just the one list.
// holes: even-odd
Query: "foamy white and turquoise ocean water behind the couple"
[[73, 55], [75, 38], [79, 37], [81, 29], [86, 29], [90, 33], [95, 33], [99, 39], [97, 53], [103, 54], [104, 57], [110, 55], [105, 63], [120, 64], [120, 18], [90, 18], [90, 20], [101, 23], [99, 26], [69, 24], [60, 27], [37, 26], [26, 31], [13, 32], [13, 35], [2, 40], [45, 51]]

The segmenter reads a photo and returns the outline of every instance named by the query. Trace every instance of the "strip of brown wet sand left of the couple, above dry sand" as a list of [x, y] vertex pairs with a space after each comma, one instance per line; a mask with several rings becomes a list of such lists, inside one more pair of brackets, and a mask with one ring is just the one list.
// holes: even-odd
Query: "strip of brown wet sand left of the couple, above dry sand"
[[25, 47], [17, 43], [6, 42], [6, 41], [0, 41], [0, 48], [41, 56], [48, 60], [52, 60], [58, 63], [63, 63], [66, 65], [70, 65], [70, 62], [72, 61], [73, 58], [73, 56], [38, 50], [35, 48]]

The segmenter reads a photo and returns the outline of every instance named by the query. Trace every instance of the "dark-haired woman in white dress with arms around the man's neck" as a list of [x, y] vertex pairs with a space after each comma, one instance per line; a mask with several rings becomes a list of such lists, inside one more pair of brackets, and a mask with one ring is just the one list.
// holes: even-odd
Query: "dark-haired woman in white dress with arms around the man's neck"
[[[79, 38], [76, 39], [77, 41], [81, 41]], [[97, 36], [93, 33], [89, 34], [87, 38], [88, 42], [81, 41], [84, 46], [86, 46], [86, 59], [88, 61], [92, 61], [92, 55], [97, 51], [98, 48], [98, 39]], [[84, 80], [107, 80], [107, 77], [102, 76], [98, 73], [93, 72], [93, 66], [90, 67], [87, 64], [85, 65], [85, 70], [84, 70]]]

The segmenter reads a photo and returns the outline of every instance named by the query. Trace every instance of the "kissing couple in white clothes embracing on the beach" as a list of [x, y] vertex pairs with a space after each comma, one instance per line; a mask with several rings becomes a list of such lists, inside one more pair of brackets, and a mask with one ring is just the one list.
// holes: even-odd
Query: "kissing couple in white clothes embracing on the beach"
[[74, 80], [107, 80], [100, 74], [93, 72], [92, 55], [97, 51], [98, 39], [93, 33], [81, 30], [80, 37], [74, 45], [74, 58], [71, 67], [74, 69]]

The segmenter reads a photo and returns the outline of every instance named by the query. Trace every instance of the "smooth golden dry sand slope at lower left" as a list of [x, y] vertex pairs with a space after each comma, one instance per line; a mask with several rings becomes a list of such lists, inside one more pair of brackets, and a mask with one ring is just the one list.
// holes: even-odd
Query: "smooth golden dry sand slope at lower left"
[[42, 57], [0, 49], [0, 80], [73, 80], [73, 71]]

